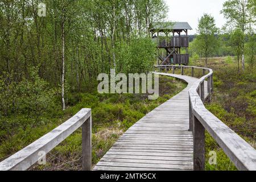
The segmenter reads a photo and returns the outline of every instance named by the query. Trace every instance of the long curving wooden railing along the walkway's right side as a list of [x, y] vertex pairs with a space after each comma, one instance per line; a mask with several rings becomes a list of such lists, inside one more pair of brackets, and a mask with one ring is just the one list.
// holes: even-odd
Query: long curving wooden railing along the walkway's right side
[[[194, 76], [195, 69], [203, 70], [203, 77], [199, 78], [189, 89], [189, 131], [193, 132], [193, 164], [195, 170], [205, 169], [205, 129], [213, 137], [225, 154], [239, 170], [256, 170], [256, 150], [243, 140], [238, 134], [226, 126], [220, 119], [208, 111], [203, 102], [205, 101], [204, 81], [208, 81], [208, 97], [213, 92], [213, 71], [208, 68], [189, 66], [156, 65], [155, 67], [165, 69], [181, 68], [191, 69]], [[208, 73], [207, 73], [208, 72]], [[207, 75], [205, 75], [207, 73]]]

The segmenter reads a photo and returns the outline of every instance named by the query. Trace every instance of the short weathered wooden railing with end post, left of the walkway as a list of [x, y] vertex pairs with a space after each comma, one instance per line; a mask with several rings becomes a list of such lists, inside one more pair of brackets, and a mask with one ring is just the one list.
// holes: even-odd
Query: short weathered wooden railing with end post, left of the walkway
[[0, 163], [0, 171], [26, 170], [42, 159], [74, 131], [82, 127], [82, 170], [92, 168], [92, 116], [91, 109], [82, 109], [68, 121], [16, 152]]

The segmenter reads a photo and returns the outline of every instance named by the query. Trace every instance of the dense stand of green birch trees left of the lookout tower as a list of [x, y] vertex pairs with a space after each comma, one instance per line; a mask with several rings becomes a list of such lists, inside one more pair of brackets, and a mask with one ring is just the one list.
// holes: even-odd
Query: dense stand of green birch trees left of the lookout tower
[[44, 17], [38, 16], [39, 1], [0, 2], [0, 75], [16, 72], [14, 80], [22, 80], [38, 67], [39, 77], [59, 89], [64, 61], [69, 106], [73, 93], [88, 91], [116, 62], [118, 72], [151, 71], [155, 50], [148, 28], [166, 17], [163, 0], [42, 2]]

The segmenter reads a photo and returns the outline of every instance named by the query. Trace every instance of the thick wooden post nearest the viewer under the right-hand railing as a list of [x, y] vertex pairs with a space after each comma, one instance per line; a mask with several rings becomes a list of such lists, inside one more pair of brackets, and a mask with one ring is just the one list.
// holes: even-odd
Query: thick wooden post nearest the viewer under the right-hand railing
[[193, 164], [194, 171], [205, 170], [205, 129], [193, 115]]

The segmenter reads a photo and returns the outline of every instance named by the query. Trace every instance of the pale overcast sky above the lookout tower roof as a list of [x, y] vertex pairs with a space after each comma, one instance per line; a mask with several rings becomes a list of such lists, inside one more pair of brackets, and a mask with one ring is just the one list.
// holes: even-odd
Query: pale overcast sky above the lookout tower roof
[[169, 6], [168, 20], [175, 22], [188, 22], [193, 30], [188, 34], [196, 34], [198, 19], [204, 14], [211, 14], [216, 26], [221, 28], [225, 19], [220, 11], [226, 0], [165, 0]]

